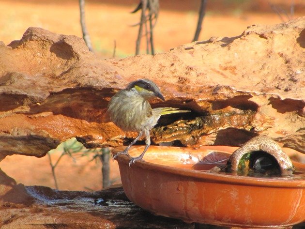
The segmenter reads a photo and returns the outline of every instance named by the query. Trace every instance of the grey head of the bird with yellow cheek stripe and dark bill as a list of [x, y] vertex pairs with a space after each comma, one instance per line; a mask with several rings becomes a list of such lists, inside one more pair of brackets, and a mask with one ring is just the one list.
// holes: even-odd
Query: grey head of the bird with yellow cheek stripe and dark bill
[[149, 99], [156, 96], [165, 101], [165, 98], [163, 97], [158, 86], [154, 82], [152, 82], [152, 80], [149, 79], [138, 79], [136, 81], [133, 81], [128, 84], [126, 89], [136, 92], [145, 99]]

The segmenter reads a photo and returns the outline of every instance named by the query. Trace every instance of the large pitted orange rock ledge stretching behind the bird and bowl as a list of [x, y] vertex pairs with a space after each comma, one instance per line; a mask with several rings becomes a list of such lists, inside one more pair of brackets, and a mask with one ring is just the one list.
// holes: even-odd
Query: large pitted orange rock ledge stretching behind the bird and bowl
[[110, 97], [149, 78], [166, 102], [190, 109], [164, 117], [153, 143], [237, 146], [266, 134], [305, 153], [305, 17], [250, 26], [237, 37], [213, 37], [154, 56], [99, 60], [81, 38], [29, 28], [0, 44], [0, 159], [44, 156], [76, 137], [86, 147], [127, 144], [107, 116]]

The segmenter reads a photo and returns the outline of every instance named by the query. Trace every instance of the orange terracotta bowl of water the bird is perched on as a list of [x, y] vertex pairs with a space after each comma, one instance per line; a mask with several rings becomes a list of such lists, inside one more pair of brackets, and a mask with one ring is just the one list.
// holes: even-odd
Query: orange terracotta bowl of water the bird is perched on
[[[129, 154], [137, 156], [143, 149], [132, 147]], [[145, 161], [131, 168], [130, 157], [121, 154], [117, 161], [124, 192], [147, 211], [189, 223], [272, 228], [305, 221], [305, 164], [296, 163], [292, 177], [257, 178], [211, 172], [215, 164], [201, 163], [210, 153], [213, 160], [229, 158], [234, 150], [151, 146]]]

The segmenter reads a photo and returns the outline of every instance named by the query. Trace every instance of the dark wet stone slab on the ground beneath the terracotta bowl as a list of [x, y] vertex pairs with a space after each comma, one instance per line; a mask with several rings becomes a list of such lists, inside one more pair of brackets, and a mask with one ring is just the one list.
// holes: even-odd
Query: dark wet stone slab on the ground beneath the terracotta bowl
[[16, 228], [124, 228], [194, 229], [194, 224], [156, 216], [137, 207], [122, 187], [97, 192], [60, 191], [44, 186], [25, 186], [21, 193], [30, 205], [1, 202], [1, 229]]

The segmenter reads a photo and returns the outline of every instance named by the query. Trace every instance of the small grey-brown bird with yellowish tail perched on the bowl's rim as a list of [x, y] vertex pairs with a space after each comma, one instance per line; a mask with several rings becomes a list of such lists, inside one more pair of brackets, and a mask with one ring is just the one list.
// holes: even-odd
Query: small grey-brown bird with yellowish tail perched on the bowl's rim
[[174, 107], [152, 108], [149, 99], [158, 97], [165, 101], [159, 87], [149, 79], [138, 79], [128, 84], [128, 86], [114, 94], [107, 106], [111, 122], [115, 123], [123, 131], [137, 132], [137, 137], [122, 151], [113, 156], [115, 159], [120, 154], [128, 154], [128, 150], [137, 140], [145, 136], [145, 148], [143, 152], [132, 157], [129, 167], [138, 160], [143, 160], [143, 156], [151, 144], [150, 130], [154, 127], [162, 115], [173, 113], [185, 113], [189, 110], [180, 110]]

